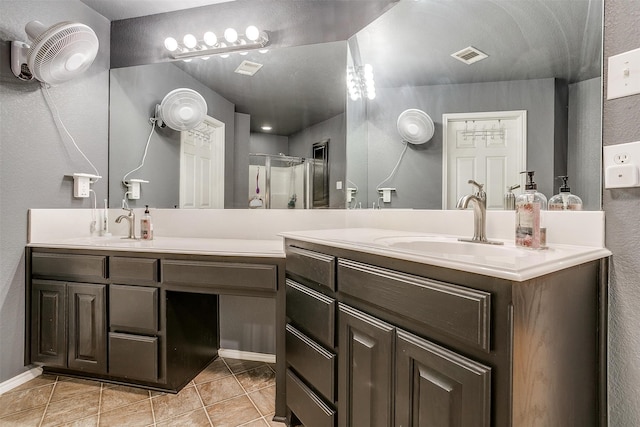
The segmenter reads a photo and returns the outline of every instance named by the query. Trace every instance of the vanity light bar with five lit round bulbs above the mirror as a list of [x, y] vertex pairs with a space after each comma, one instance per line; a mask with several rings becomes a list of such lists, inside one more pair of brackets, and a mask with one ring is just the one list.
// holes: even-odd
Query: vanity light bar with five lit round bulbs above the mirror
[[211, 31], [207, 31], [202, 40], [196, 39], [193, 34], [186, 34], [182, 42], [173, 37], [167, 37], [164, 47], [171, 52], [174, 59], [206, 59], [213, 55], [223, 55], [226, 58], [229, 53], [245, 53], [249, 50], [264, 49], [269, 45], [269, 35], [266, 31], [260, 31], [255, 26], [247, 27], [244, 34], [238, 34], [233, 28], [227, 28], [221, 39]]

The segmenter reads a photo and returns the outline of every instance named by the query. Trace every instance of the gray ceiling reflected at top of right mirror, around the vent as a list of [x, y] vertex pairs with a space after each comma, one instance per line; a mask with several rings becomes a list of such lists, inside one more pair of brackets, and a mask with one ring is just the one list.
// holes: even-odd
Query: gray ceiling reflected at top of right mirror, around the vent
[[[558, 78], [601, 72], [602, 1], [400, 1], [358, 32], [384, 87]], [[451, 55], [473, 46], [487, 59]]]

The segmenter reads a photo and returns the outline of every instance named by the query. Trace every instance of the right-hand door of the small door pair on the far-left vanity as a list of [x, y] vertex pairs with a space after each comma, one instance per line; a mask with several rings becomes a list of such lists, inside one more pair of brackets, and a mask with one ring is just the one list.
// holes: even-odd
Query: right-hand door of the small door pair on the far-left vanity
[[69, 368], [107, 372], [106, 287], [69, 283]]

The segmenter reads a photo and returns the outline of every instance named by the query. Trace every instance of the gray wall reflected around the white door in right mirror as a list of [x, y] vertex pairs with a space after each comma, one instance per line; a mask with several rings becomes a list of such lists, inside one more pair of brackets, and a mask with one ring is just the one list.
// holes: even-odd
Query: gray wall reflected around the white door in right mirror
[[[559, 174], [555, 169], [554, 146], [566, 146], [566, 135], [562, 139], [555, 130], [556, 121], [566, 129], [566, 120], [557, 119], [554, 114], [557, 98], [563, 97], [564, 92], [557, 90], [556, 80], [380, 88], [376, 92], [375, 102], [367, 104], [369, 205], [376, 201], [377, 206], [375, 189], [390, 175], [402, 152], [404, 146], [396, 122], [400, 113], [408, 108], [429, 114], [435, 124], [435, 134], [425, 144], [410, 145], [397, 173], [385, 183], [396, 188], [390, 207], [442, 207], [443, 113], [527, 110], [527, 167], [536, 171], [539, 191], [547, 197], [554, 194], [553, 177]], [[566, 97], [560, 102], [566, 105]], [[566, 148], [564, 153], [566, 156]]]

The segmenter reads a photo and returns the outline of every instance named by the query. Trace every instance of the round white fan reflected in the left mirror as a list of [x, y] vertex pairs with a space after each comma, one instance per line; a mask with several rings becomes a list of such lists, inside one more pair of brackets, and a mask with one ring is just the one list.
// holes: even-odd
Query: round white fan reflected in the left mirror
[[207, 102], [193, 89], [178, 88], [169, 92], [156, 105], [154, 121], [159, 127], [168, 126], [173, 130], [194, 129], [207, 115]]

